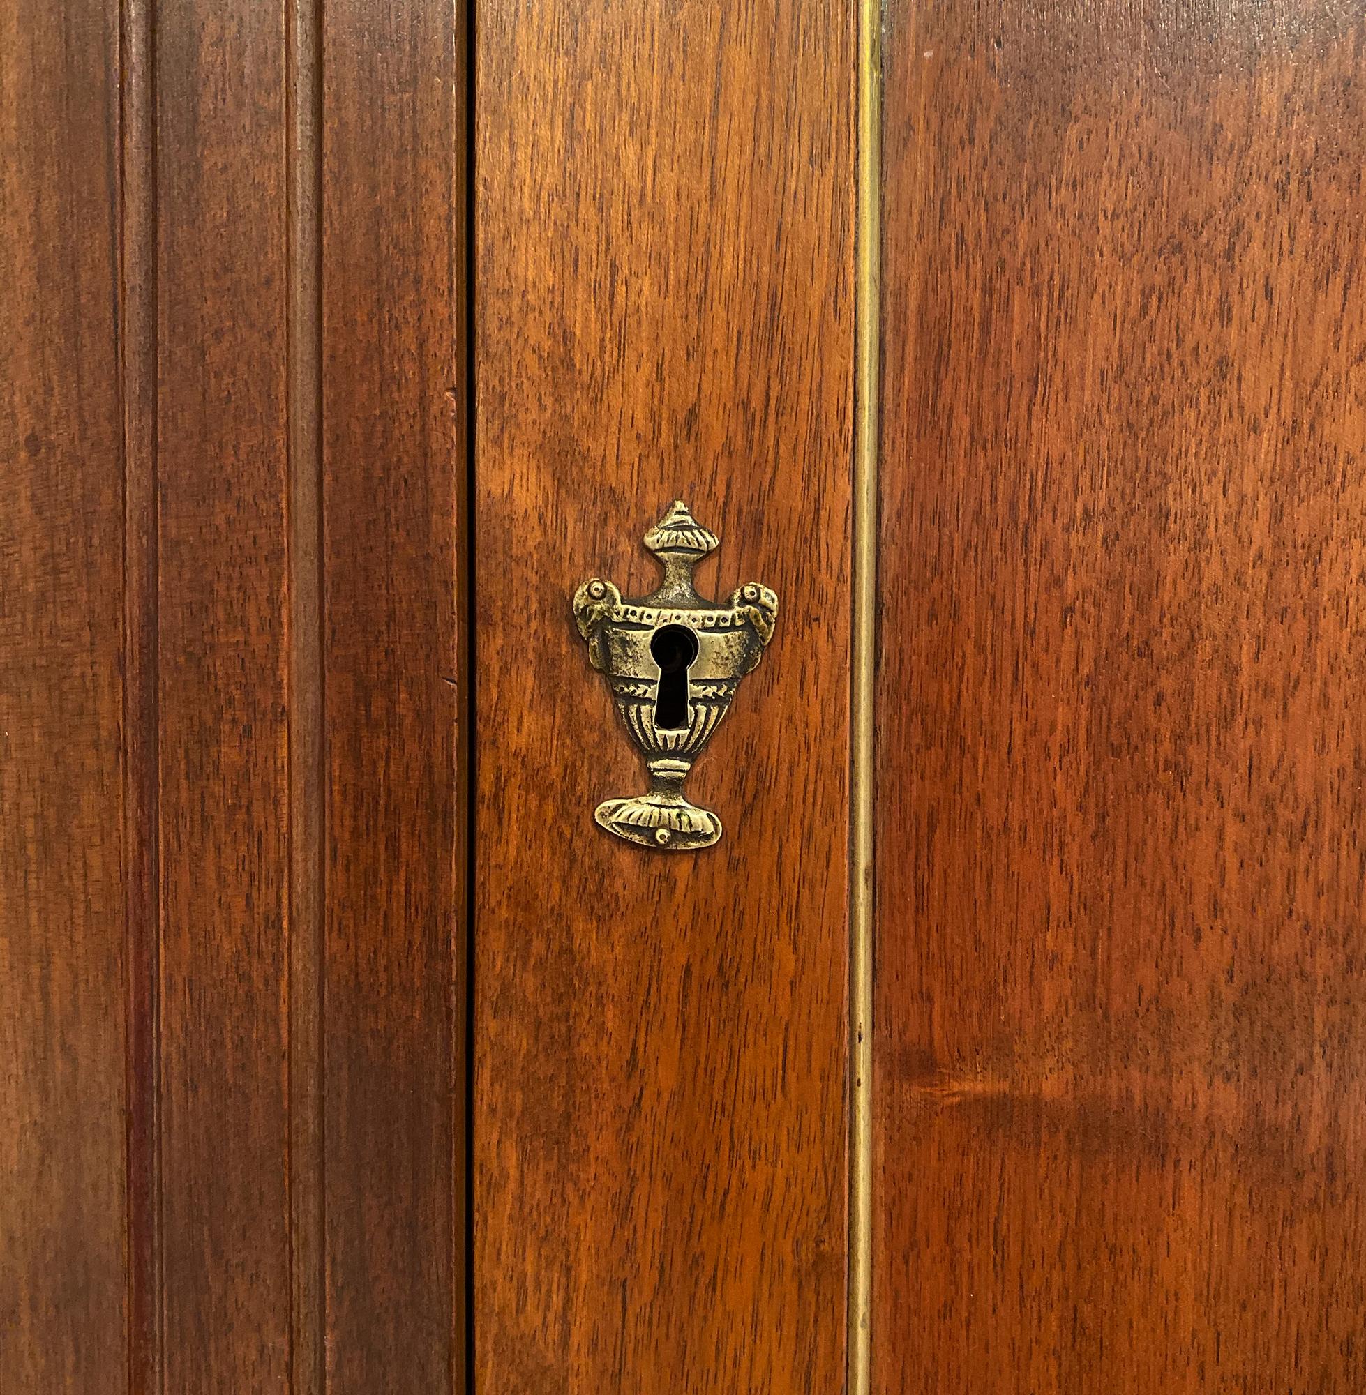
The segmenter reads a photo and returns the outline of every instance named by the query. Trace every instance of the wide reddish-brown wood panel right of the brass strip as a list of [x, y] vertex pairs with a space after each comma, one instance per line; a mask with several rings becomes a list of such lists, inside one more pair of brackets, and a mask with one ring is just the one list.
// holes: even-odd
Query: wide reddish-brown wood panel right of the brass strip
[[1366, 1387], [1366, 27], [893, 4], [882, 1392]]

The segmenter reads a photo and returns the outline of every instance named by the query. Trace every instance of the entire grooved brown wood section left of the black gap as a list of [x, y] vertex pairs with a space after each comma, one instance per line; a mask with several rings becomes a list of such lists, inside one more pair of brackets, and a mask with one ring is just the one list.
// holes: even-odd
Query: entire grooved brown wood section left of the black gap
[[466, 25], [0, 17], [6, 1391], [465, 1388]]

